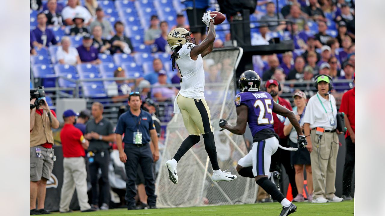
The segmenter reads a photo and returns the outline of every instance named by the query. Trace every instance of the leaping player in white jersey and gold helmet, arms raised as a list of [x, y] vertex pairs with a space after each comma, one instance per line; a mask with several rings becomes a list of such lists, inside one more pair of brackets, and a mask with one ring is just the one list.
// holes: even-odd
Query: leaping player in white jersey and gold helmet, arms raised
[[[215, 15], [216, 16], [216, 15]], [[216, 156], [214, 134], [210, 123], [210, 110], [204, 100], [204, 71], [202, 58], [213, 50], [215, 40], [214, 17], [210, 11], [203, 14], [202, 21], [208, 27], [207, 37], [198, 45], [191, 32], [174, 28], [167, 35], [167, 42], [174, 53], [171, 55], [172, 70], [178, 66], [181, 73], [181, 90], [174, 101], [174, 113], [182, 113], [183, 123], [189, 136], [182, 142], [175, 156], [166, 162], [169, 178], [178, 183], [177, 163], [181, 157], [200, 140], [203, 135], [204, 147], [213, 166], [213, 181], [233, 181], [237, 178], [228, 170], [221, 171]]]

